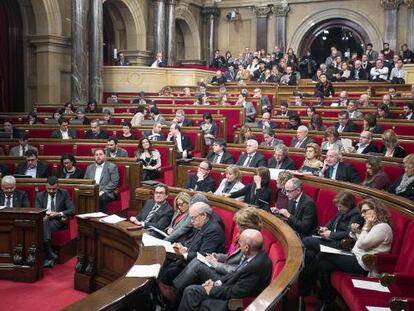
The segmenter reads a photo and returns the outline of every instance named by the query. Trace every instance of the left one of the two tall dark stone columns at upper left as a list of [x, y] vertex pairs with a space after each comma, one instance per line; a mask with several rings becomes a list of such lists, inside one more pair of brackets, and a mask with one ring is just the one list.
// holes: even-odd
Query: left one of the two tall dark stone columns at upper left
[[72, 0], [72, 74], [71, 99], [78, 105], [87, 100], [87, 1]]

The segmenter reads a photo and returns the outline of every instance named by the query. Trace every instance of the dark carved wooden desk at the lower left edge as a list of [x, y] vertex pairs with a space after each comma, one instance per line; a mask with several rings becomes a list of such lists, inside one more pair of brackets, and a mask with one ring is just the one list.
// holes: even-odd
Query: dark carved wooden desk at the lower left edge
[[43, 277], [43, 217], [38, 208], [0, 210], [0, 278], [35, 282]]

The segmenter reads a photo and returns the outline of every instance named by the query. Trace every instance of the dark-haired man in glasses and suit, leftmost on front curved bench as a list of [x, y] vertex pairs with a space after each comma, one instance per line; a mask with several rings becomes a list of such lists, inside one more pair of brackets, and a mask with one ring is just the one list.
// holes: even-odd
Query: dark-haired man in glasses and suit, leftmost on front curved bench
[[[154, 189], [154, 197], [147, 200], [144, 207], [141, 209], [137, 217], [131, 217], [130, 221], [141, 228], [155, 227], [161, 231], [170, 224], [174, 210], [167, 202], [168, 187], [163, 184], [158, 184]], [[158, 237], [156, 232], [153, 232]]]

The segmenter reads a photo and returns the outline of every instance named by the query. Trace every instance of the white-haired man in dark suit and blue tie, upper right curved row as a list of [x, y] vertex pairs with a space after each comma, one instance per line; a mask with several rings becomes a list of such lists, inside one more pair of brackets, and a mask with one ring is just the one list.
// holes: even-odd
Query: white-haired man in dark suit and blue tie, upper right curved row
[[319, 176], [354, 184], [361, 183], [355, 168], [351, 164], [342, 162], [342, 155], [335, 149], [329, 149], [326, 153], [326, 159], [323, 162]]

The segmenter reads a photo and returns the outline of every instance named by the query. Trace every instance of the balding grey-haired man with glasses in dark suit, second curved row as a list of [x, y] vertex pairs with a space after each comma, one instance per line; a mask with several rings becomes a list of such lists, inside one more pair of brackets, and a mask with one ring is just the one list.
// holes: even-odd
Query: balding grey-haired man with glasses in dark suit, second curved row
[[303, 192], [302, 181], [296, 177], [285, 184], [285, 192], [289, 198], [288, 208], [278, 212], [287, 218], [287, 223], [301, 237], [311, 235], [318, 225], [316, 204]]

